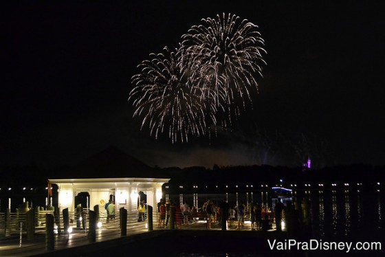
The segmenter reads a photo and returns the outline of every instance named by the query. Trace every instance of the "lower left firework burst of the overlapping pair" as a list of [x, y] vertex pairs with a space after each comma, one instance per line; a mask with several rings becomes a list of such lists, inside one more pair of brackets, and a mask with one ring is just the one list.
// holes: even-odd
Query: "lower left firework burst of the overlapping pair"
[[130, 92], [134, 116], [143, 115], [142, 127], [148, 123], [151, 135], [168, 131], [172, 142], [188, 141], [188, 135], [204, 135], [206, 120], [215, 123], [215, 110], [194, 87], [188, 69], [178, 62], [177, 52], [165, 47], [162, 54], [150, 54], [131, 78], [135, 86]]

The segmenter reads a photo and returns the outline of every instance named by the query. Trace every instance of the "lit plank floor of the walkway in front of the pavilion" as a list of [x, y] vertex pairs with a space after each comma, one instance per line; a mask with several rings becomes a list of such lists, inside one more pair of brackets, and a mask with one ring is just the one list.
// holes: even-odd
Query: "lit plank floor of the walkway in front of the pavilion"
[[[137, 223], [136, 227], [131, 227], [127, 230], [127, 236], [121, 237], [120, 230], [117, 225], [114, 224], [104, 224], [104, 227], [96, 231], [96, 243], [89, 243], [87, 238], [87, 232], [85, 230], [75, 229], [71, 234], [56, 234], [55, 235], [55, 245], [54, 251], [47, 251], [45, 249], [45, 234], [44, 232], [39, 232], [35, 234], [32, 240], [27, 240], [26, 236], [23, 235], [22, 245], [20, 246], [19, 236], [12, 236], [9, 238], [0, 238], [0, 256], [60, 256], [64, 254], [61, 250], [63, 249], [72, 249], [72, 251], [65, 251], [65, 256], [72, 256], [69, 252], [79, 253], [81, 247], [92, 247], [96, 249], [100, 247], [111, 247], [113, 245], [119, 245], [120, 243], [130, 243], [131, 241], [137, 241], [144, 238], [152, 238], [159, 236], [163, 232], [167, 232], [170, 229], [163, 229], [157, 227], [157, 223], [153, 224], [153, 232], [148, 232], [146, 228], [146, 223]], [[177, 230], [177, 229], [175, 229]], [[182, 230], [206, 230], [205, 221], [197, 221], [195, 223], [190, 223], [188, 225], [182, 225]], [[214, 231], [221, 230], [218, 224], [212, 224], [212, 229]], [[228, 227], [229, 231], [239, 231], [236, 229], [236, 223]], [[252, 231], [250, 227], [250, 222], [246, 221], [245, 226], [243, 227], [243, 232], [258, 233], [258, 231]], [[209, 231], [208, 231], [209, 232]], [[258, 233], [259, 234], [259, 233]], [[108, 246], [107, 246], [108, 244]]]

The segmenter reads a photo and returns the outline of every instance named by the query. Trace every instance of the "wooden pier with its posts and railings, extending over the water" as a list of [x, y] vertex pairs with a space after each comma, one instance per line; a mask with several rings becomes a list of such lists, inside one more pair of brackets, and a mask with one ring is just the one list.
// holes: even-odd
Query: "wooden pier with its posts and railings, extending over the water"
[[[150, 208], [148, 208], [150, 209]], [[54, 212], [41, 211], [44, 215], [53, 216]], [[91, 211], [92, 212], [92, 211]], [[105, 212], [100, 212], [94, 232], [92, 231], [92, 223], [89, 219], [89, 210], [84, 210], [83, 219], [80, 223], [78, 220], [72, 220], [69, 224], [71, 230], [64, 230], [65, 222], [63, 214], [60, 216], [60, 221], [54, 223], [53, 241], [50, 242], [50, 233], [47, 232], [49, 227], [43, 219], [36, 219], [39, 226], [34, 227], [34, 234], [28, 234], [28, 225], [25, 224], [23, 215], [10, 214], [12, 216], [12, 223], [8, 224], [1, 219], [1, 233], [0, 233], [0, 256], [87, 256], [91, 253], [100, 253], [111, 249], [111, 247], [133, 247], [140, 241], [164, 241], [165, 238], [175, 235], [183, 235], [186, 238], [196, 238], [200, 236], [214, 236], [215, 238], [232, 238], [237, 236], [265, 237], [266, 233], [273, 233], [275, 236], [283, 236], [284, 232], [276, 232], [274, 229], [267, 232], [252, 231], [248, 214], [245, 215], [245, 223], [242, 230], [237, 230], [236, 221], [233, 225], [228, 223], [227, 231], [221, 231], [220, 224], [216, 221], [212, 223], [211, 230], [207, 230], [207, 221], [205, 219], [192, 219], [188, 224], [183, 224], [182, 229], [177, 229], [176, 226], [168, 223], [167, 227], [158, 227], [159, 216], [157, 212], [154, 215], [146, 213], [146, 220], [143, 222], [126, 222], [126, 230], [122, 221], [130, 221], [137, 217], [137, 215], [129, 217], [122, 217], [122, 210], [120, 214], [116, 215], [115, 219], [109, 219], [107, 223], [107, 215]], [[130, 214], [131, 215], [131, 214]], [[42, 214], [39, 214], [42, 216]], [[76, 213], [69, 216], [75, 217]], [[151, 219], [152, 216], [152, 219]], [[122, 219], [121, 219], [122, 218]], [[151, 220], [148, 220], [150, 218]], [[18, 220], [19, 219], [19, 220]], [[19, 222], [17, 222], [19, 221]], [[85, 222], [83, 222], [85, 221]], [[151, 222], [152, 221], [152, 222]], [[18, 225], [19, 224], [19, 225]], [[36, 225], [36, 223], [35, 223]], [[275, 227], [275, 225], [273, 224]], [[94, 233], [94, 238], [92, 234]], [[226, 236], [225, 234], [228, 234]], [[277, 234], [278, 233], [278, 234]], [[188, 240], [192, 243], [193, 240]], [[230, 240], [223, 239], [223, 240]], [[131, 246], [130, 246], [131, 245]]]

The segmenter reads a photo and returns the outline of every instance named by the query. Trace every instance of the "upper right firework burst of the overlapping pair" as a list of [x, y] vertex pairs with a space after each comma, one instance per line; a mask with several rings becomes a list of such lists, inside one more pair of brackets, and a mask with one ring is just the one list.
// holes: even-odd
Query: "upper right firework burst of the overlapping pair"
[[195, 67], [194, 76], [203, 78], [196, 82], [203, 91], [214, 91], [217, 107], [244, 109], [246, 100], [252, 104], [250, 91], [258, 89], [256, 76], [265, 65], [258, 26], [231, 14], [201, 21], [181, 37], [182, 56]]

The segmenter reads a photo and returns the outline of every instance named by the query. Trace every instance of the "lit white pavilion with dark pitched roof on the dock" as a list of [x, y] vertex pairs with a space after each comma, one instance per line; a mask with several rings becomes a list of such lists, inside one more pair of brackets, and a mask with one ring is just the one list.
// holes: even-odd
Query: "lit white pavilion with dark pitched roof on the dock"
[[86, 194], [89, 206], [83, 207], [92, 210], [99, 205], [102, 212], [104, 204], [113, 199], [116, 212], [124, 207], [128, 214], [136, 214], [141, 196], [145, 195], [146, 203], [153, 207], [162, 198], [162, 186], [170, 179], [162, 178], [157, 171], [111, 146], [49, 180], [58, 186], [60, 210], [68, 208], [74, 212], [76, 196]]

